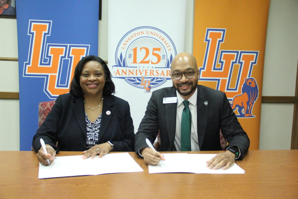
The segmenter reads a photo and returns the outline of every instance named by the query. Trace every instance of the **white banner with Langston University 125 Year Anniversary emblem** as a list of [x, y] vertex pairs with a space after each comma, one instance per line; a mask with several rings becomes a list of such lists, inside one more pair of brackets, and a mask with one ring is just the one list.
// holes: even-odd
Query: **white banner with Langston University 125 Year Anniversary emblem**
[[171, 87], [170, 64], [184, 51], [186, 0], [108, 1], [108, 67], [115, 95], [129, 102], [135, 132], [151, 92]]

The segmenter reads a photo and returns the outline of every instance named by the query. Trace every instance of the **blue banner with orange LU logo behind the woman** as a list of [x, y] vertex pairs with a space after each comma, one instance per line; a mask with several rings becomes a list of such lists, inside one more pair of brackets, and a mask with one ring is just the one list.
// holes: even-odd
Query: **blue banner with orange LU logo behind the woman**
[[16, 0], [20, 150], [30, 150], [38, 104], [69, 92], [77, 62], [98, 55], [99, 1]]

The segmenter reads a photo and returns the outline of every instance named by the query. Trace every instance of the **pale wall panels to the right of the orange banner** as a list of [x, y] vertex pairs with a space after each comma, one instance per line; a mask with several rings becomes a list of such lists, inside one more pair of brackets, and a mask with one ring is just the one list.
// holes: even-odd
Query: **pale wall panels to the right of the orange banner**
[[[271, 0], [263, 96], [294, 96], [298, 58], [298, 1]], [[294, 104], [262, 104], [259, 149], [291, 149]]]

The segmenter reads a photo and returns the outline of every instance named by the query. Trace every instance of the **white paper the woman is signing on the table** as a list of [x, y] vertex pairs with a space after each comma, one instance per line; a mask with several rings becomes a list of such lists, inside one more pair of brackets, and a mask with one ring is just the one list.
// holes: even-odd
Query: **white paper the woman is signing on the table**
[[38, 178], [57, 178], [78, 175], [141, 172], [143, 169], [128, 153], [110, 153], [94, 159], [82, 159], [82, 155], [60, 156], [44, 166], [39, 163]]

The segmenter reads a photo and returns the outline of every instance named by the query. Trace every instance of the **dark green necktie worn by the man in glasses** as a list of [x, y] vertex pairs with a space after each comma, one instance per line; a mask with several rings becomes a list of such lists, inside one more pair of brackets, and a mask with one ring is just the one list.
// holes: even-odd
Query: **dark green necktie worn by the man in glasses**
[[189, 101], [184, 100], [184, 109], [181, 117], [181, 151], [191, 151], [190, 131], [191, 131], [191, 113], [188, 107]]

